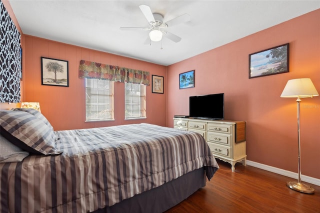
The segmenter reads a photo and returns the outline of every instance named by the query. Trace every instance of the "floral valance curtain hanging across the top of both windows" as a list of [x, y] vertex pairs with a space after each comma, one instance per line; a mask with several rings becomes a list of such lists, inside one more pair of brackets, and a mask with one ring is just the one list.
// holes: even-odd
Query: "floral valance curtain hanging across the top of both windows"
[[149, 85], [148, 71], [80, 60], [79, 77]]

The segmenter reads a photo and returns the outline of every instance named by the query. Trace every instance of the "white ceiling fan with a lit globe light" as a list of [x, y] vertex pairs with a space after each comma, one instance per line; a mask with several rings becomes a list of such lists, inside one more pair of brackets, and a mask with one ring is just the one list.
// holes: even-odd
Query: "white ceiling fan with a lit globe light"
[[169, 38], [174, 42], [179, 42], [181, 37], [166, 31], [168, 26], [176, 25], [190, 20], [189, 14], [182, 14], [171, 20], [163, 22], [163, 16], [159, 13], [152, 13], [150, 7], [145, 4], [139, 5], [140, 10], [149, 23], [149, 27], [120, 27], [122, 30], [146, 30], [149, 31], [149, 38], [151, 41], [160, 41], [162, 36]]

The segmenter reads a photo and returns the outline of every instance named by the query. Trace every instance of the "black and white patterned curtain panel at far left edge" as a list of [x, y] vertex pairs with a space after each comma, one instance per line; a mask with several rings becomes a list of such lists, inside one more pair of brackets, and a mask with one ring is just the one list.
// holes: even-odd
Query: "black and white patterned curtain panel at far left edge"
[[20, 102], [20, 32], [0, 1], [0, 102]]

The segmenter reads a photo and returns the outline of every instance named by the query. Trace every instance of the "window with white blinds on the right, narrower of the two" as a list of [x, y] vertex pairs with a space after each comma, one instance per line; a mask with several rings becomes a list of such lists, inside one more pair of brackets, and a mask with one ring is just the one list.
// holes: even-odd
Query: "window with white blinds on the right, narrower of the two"
[[145, 117], [145, 85], [124, 83], [125, 119]]

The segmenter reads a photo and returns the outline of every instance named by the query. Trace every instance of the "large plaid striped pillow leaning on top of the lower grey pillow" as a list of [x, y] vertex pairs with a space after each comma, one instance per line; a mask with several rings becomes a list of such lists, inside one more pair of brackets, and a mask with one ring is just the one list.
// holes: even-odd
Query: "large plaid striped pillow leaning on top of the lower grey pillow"
[[1, 134], [14, 145], [33, 154], [59, 154], [55, 133], [36, 116], [20, 110], [0, 111]]

